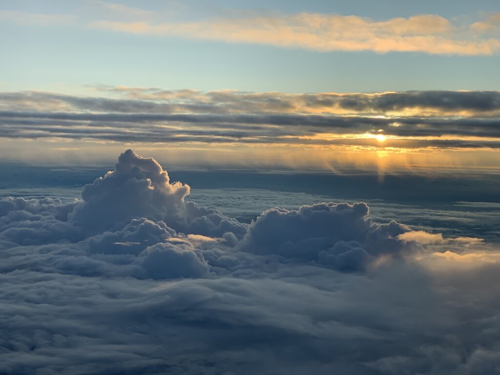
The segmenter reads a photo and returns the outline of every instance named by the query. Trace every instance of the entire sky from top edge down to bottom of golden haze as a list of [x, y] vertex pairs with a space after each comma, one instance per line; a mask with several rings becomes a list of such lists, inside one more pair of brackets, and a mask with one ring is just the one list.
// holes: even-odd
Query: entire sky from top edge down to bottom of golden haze
[[499, 17], [495, 1], [3, 1], [0, 158], [497, 167]]

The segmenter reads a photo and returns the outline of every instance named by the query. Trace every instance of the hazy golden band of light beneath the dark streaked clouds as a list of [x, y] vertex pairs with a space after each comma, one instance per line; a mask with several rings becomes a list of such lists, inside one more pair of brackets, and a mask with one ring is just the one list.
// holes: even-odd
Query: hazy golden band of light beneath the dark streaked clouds
[[[371, 141], [379, 143], [375, 138]], [[386, 142], [389, 140], [386, 140]], [[386, 143], [385, 142], [385, 143]], [[171, 165], [272, 167], [341, 172], [375, 171], [381, 175], [399, 171], [415, 173], [463, 173], [499, 170], [500, 150], [429, 150], [374, 146], [239, 144], [224, 143], [122, 143], [67, 139], [3, 139], [0, 157], [25, 162], [94, 164], [111, 160], [123, 147], [133, 146]], [[107, 161], [106, 161], [107, 162]]]

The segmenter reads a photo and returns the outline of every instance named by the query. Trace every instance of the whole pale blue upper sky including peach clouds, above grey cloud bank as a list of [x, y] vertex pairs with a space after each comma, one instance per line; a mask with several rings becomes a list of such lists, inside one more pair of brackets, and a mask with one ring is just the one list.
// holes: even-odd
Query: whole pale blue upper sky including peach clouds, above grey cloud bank
[[[0, 6], [1, 46], [9, 51], [1, 61], [9, 72], [1, 83], [7, 90], [81, 93], [83, 85], [126, 85], [379, 92], [494, 90], [498, 84], [490, 74], [499, 62], [495, 1], [83, 0]], [[332, 29], [317, 27], [312, 17], [331, 21]], [[407, 40], [363, 45], [367, 32]]]

